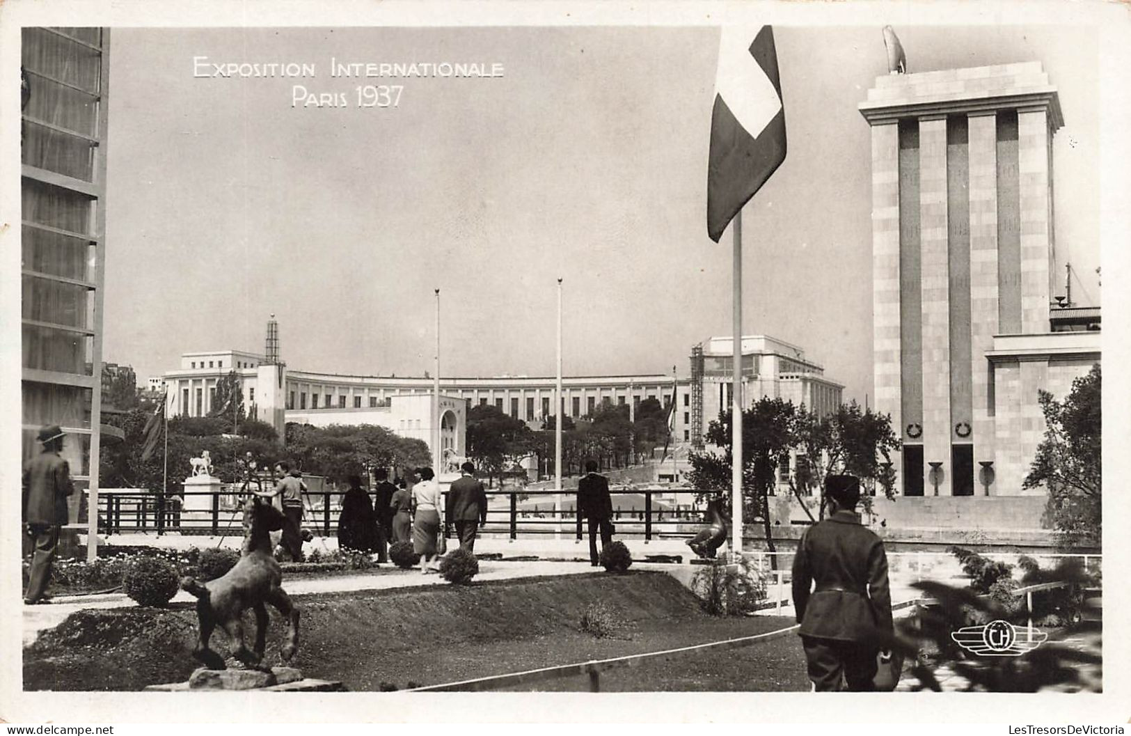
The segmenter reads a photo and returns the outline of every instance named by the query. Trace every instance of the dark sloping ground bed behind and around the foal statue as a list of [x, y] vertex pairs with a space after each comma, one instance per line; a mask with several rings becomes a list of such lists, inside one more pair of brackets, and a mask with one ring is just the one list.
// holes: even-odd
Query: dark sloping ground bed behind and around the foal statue
[[[581, 613], [596, 601], [615, 609], [636, 635], [597, 641], [580, 633]], [[311, 677], [342, 679], [351, 690], [450, 682], [648, 651], [661, 640], [679, 645], [734, 635], [729, 628], [715, 632], [724, 624], [776, 625], [713, 619], [679, 582], [651, 572], [299, 596], [295, 602], [302, 635], [292, 665]], [[279, 662], [283, 633], [271, 610], [267, 664]], [[187, 606], [80, 611], [25, 648], [24, 687], [141, 690], [184, 681], [197, 666], [195, 635], [196, 611]], [[223, 632], [213, 635], [217, 651], [227, 644]]]

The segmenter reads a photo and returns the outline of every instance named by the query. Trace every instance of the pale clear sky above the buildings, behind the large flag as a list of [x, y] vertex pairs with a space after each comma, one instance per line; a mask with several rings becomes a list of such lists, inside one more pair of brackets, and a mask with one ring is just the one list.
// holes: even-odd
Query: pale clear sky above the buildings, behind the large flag
[[[1059, 88], [1059, 277], [1099, 303], [1095, 33], [896, 24], [908, 70], [1041, 61]], [[292, 369], [689, 374], [731, 334], [731, 233], [706, 230], [718, 31], [710, 27], [114, 28], [104, 357], [139, 380], [182, 352]], [[845, 400], [872, 392], [869, 126], [879, 25], [776, 27], [788, 154], [746, 206], [745, 334], [800, 345]], [[197, 78], [193, 58], [316, 65], [313, 79]], [[502, 65], [406, 79], [356, 106], [329, 60]], [[348, 108], [292, 106], [293, 85]], [[399, 84], [399, 83], [398, 83]], [[1062, 290], [1060, 290], [1062, 291]]]

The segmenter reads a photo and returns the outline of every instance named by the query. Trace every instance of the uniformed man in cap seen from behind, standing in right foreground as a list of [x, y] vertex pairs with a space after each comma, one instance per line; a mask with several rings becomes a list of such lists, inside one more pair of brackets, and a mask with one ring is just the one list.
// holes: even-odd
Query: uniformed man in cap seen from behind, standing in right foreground
[[[809, 678], [818, 691], [872, 690], [877, 654], [892, 631], [888, 557], [860, 523], [860, 480], [824, 480], [829, 517], [810, 527], [793, 562], [793, 602]], [[815, 583], [812, 592], [810, 583]]]

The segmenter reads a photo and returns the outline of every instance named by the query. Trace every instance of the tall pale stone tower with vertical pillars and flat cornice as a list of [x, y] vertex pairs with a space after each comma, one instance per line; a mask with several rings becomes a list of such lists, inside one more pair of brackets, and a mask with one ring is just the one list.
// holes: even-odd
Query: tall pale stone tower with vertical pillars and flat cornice
[[860, 111], [875, 404], [901, 429], [903, 493], [1019, 494], [1037, 390], [1098, 359], [1095, 336], [1051, 334], [1056, 88], [1039, 62], [892, 74]]

